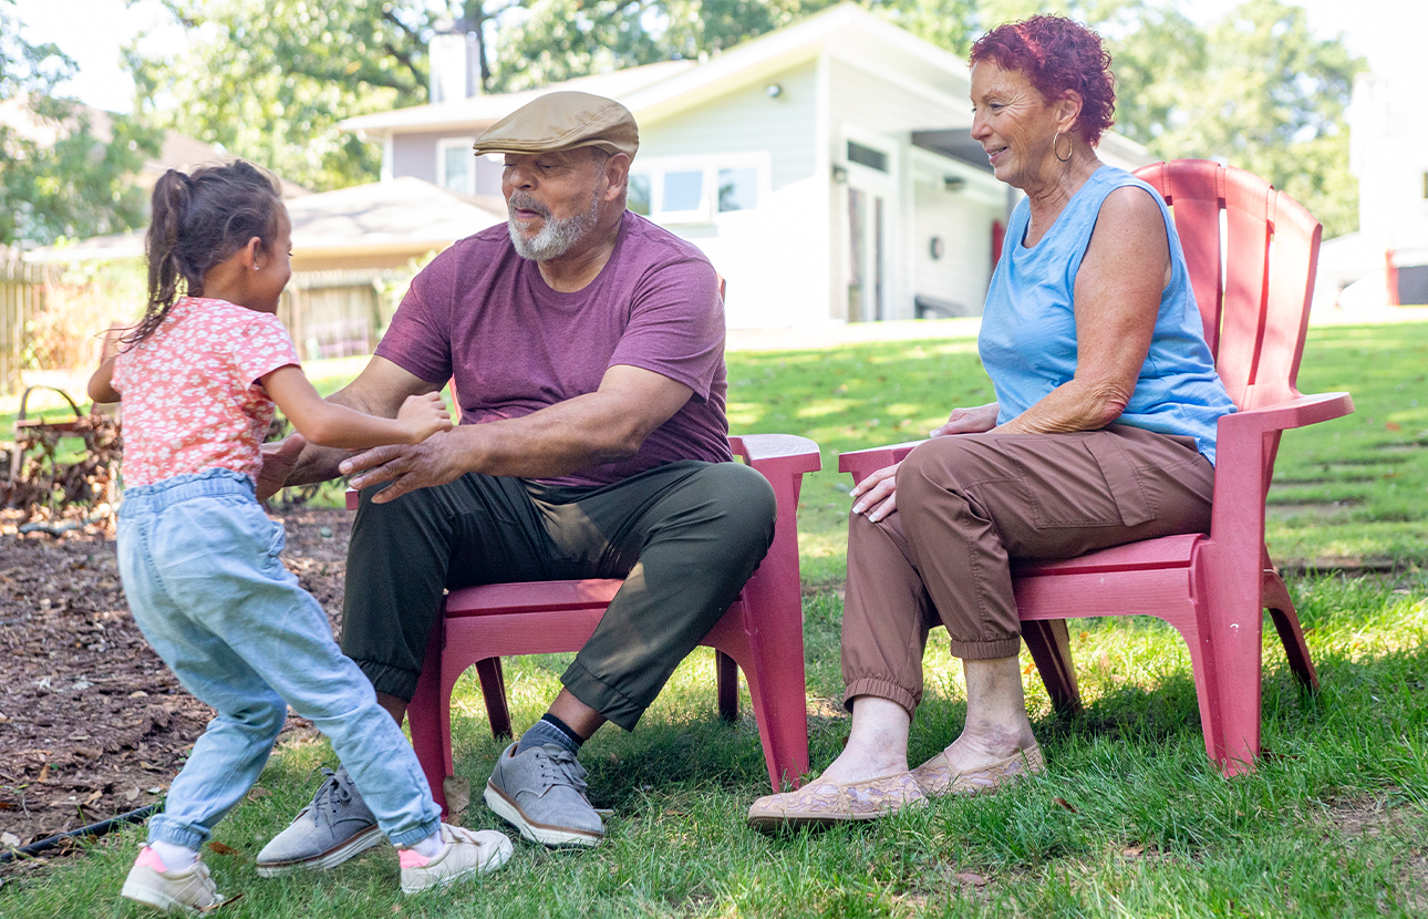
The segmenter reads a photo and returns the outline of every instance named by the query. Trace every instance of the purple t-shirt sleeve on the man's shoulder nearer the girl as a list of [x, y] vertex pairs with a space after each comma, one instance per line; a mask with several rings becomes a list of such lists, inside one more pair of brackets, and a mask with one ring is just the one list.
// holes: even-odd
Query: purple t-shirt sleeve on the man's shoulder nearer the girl
[[451, 246], [417, 272], [376, 354], [437, 386], [451, 379], [451, 300], [458, 250]]

